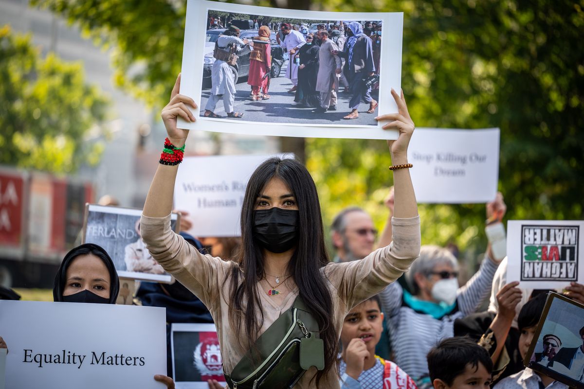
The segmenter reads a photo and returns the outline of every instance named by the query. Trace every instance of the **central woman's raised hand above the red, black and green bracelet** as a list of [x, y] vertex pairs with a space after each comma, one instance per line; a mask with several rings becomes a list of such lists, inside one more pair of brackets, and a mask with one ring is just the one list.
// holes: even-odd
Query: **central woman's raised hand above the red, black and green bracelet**
[[180, 74], [176, 78], [175, 86], [172, 88], [171, 101], [166, 104], [166, 107], [162, 108], [161, 112], [168, 139], [176, 147], [182, 147], [185, 144], [187, 135], [189, 135], [189, 130], [176, 128], [176, 118], [180, 116], [188, 122], [197, 120], [189, 110], [189, 107], [187, 107], [188, 105], [196, 109], [197, 104], [190, 97], [179, 94], [179, 89]]

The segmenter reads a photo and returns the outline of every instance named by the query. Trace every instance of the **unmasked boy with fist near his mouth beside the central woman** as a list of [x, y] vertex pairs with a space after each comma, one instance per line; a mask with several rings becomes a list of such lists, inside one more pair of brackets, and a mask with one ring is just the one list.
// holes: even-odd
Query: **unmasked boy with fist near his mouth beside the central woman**
[[377, 296], [365, 300], [347, 314], [340, 332], [341, 389], [417, 389], [404, 370], [375, 355], [382, 331], [383, 313]]

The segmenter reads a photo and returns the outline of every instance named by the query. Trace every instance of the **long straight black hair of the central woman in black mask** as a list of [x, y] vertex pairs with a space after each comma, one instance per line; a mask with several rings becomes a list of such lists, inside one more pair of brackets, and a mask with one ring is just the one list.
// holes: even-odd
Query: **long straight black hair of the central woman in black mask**
[[[245, 327], [246, 339], [253, 343], [258, 338], [263, 325], [257, 284], [263, 278], [262, 247], [253, 240], [253, 217], [256, 199], [272, 178], [280, 178], [288, 185], [298, 205], [298, 245], [288, 262], [287, 272], [298, 286], [312, 316], [317, 320], [324, 341], [325, 369], [316, 375], [317, 385], [333, 367], [338, 353], [338, 336], [333, 324], [331, 292], [326, 286], [321, 268], [328, 264], [321, 207], [317, 188], [300, 162], [294, 159], [270, 158], [260, 164], [249, 178], [241, 209], [242, 247], [238, 267], [231, 272], [231, 304], [229, 320], [232, 327], [240, 332]], [[242, 282], [239, 278], [242, 277]], [[256, 310], [259, 308], [259, 320]]]

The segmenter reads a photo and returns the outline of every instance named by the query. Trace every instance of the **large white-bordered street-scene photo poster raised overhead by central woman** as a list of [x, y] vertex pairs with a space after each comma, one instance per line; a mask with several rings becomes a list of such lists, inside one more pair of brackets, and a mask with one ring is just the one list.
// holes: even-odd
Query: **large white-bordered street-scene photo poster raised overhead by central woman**
[[350, 13], [187, 0], [180, 93], [185, 129], [397, 139], [402, 12]]

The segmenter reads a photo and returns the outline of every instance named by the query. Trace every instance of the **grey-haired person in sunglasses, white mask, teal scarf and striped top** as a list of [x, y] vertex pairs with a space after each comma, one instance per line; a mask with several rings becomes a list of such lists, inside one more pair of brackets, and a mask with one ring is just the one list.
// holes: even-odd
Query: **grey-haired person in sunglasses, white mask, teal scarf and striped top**
[[[505, 212], [502, 196], [498, 195], [487, 209], [487, 213], [499, 211], [502, 218]], [[446, 248], [422, 246], [420, 257], [406, 274], [411, 293], [398, 282], [380, 293], [394, 362], [418, 384], [429, 382], [426, 355], [430, 349], [442, 339], [453, 337], [454, 320], [475, 312], [491, 292], [499, 265], [492, 258], [489, 247], [479, 270], [459, 286], [456, 257]]]

